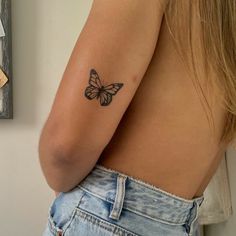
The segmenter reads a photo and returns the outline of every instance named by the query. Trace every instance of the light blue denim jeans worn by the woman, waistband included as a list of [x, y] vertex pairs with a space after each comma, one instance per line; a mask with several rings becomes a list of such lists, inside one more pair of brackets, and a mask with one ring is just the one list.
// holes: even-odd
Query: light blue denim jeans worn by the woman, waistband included
[[203, 200], [96, 164], [75, 188], [53, 200], [43, 236], [199, 236]]

